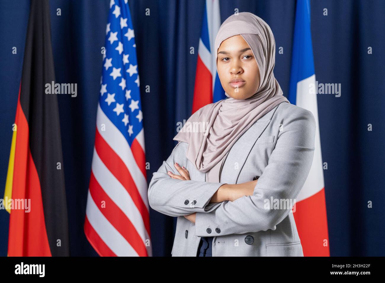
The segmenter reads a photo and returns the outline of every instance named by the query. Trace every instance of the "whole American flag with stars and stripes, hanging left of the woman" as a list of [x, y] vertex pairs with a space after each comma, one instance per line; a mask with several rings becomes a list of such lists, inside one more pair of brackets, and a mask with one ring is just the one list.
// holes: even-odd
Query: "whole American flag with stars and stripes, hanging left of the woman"
[[100, 256], [151, 256], [143, 114], [127, 0], [111, 0], [84, 232]]

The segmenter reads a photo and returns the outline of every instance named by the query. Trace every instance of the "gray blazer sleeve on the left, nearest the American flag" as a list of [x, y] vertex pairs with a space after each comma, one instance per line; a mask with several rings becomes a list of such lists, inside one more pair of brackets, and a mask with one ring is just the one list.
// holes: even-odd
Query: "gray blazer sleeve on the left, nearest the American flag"
[[[220, 203], [210, 203], [219, 187], [226, 183], [209, 183], [172, 179], [167, 171], [179, 174], [174, 163], [187, 164], [186, 147], [179, 142], [157, 172], [152, 174], [148, 189], [149, 205], [168, 216], [184, 216], [194, 212], [208, 213]], [[186, 165], [184, 165], [186, 166]]]

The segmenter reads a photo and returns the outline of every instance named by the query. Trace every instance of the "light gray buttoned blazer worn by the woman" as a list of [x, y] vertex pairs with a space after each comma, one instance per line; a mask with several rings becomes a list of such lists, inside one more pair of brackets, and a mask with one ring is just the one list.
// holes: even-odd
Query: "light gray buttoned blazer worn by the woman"
[[[291, 207], [285, 204], [293, 204], [309, 174], [315, 129], [310, 111], [282, 102], [231, 147], [220, 183], [205, 182], [206, 174], [186, 158], [187, 143], [179, 142], [153, 173], [148, 189], [152, 209], [177, 217], [172, 256], [196, 256], [204, 236], [214, 237], [213, 256], [303, 256]], [[167, 175], [179, 175], [175, 162], [189, 170], [191, 180]], [[254, 176], [260, 177], [252, 196], [209, 204], [223, 184]], [[195, 224], [184, 218], [194, 212]]]

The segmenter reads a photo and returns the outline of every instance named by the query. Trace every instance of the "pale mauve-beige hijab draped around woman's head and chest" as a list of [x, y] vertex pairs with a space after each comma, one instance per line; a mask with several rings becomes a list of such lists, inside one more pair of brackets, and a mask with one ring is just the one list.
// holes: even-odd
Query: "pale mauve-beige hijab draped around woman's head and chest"
[[[274, 77], [275, 40], [270, 27], [253, 13], [242, 12], [228, 17], [219, 28], [215, 39], [215, 58], [223, 40], [240, 34], [249, 44], [257, 61], [260, 84], [248, 99], [219, 100], [201, 107], [191, 115], [175, 141], [187, 142], [186, 157], [196, 169], [207, 172], [231, 149], [238, 138], [260, 117], [281, 102], [290, 103], [283, 96]], [[218, 71], [218, 69], [217, 69]], [[199, 124], [201, 123], [201, 124]], [[191, 125], [206, 125], [205, 129]], [[193, 129], [194, 132], [191, 132]]]

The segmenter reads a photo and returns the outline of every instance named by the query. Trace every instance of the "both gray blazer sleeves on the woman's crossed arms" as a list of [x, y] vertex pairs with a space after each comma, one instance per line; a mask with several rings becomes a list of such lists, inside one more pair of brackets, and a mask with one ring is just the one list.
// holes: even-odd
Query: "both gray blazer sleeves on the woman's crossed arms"
[[[153, 173], [148, 190], [150, 206], [174, 217], [196, 213], [195, 236], [199, 237], [275, 230], [290, 209], [266, 209], [265, 200], [293, 200], [298, 196], [313, 161], [316, 127], [313, 114], [305, 109], [282, 124], [275, 149], [252, 195], [210, 203], [225, 183], [170, 178], [167, 171], [178, 174], [176, 162], [187, 164], [185, 149], [179, 143]], [[208, 233], [208, 228], [219, 228], [216, 231], [220, 232]]]

